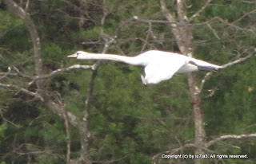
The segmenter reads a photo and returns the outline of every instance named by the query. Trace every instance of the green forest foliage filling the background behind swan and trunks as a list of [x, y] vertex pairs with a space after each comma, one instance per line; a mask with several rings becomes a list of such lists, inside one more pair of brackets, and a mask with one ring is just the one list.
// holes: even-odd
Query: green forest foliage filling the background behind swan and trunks
[[[166, 1], [166, 4], [170, 13], [176, 15], [176, 4], [172, 1]], [[18, 5], [26, 6], [22, 1]], [[202, 1], [186, 1], [188, 16], [203, 5]], [[9, 66], [15, 66], [23, 75], [34, 76], [30, 33], [21, 19], [6, 10], [3, 2], [0, 7], [0, 72], [7, 72]], [[249, 1], [211, 2], [192, 22], [202, 23], [191, 26], [194, 56], [226, 64], [253, 53], [256, 17], [250, 11], [254, 9], [255, 4]], [[102, 1], [93, 0], [30, 1], [27, 12], [37, 25], [42, 41], [45, 73], [72, 64], [94, 64], [94, 61], [72, 61], [66, 56], [78, 49], [102, 52], [106, 35], [115, 37], [107, 53], [130, 56], [146, 49], [178, 51], [168, 25], [152, 23], [149, 27], [147, 23], [131, 21], [134, 16], [164, 20], [158, 1], [114, 0], [106, 1], [106, 6]], [[107, 15], [102, 24], [104, 12]], [[248, 15], [243, 17], [245, 14]], [[223, 21], [214, 19], [216, 17]], [[251, 59], [214, 73], [206, 80], [202, 103], [207, 140], [218, 135], [255, 133], [255, 64]], [[12, 69], [12, 73], [17, 72]], [[90, 74], [89, 70], [72, 70], [51, 77], [46, 80], [49, 98], [56, 102], [62, 100], [68, 111], [82, 119]], [[126, 64], [104, 62], [100, 65], [94, 81], [89, 119], [89, 150], [95, 162], [150, 163], [155, 154], [194, 142], [193, 111], [186, 75], [145, 86], [140, 74], [141, 68]], [[205, 72], [198, 72], [198, 82], [203, 76]], [[29, 86], [30, 79], [25, 77], [1, 77], [0, 83], [15, 84], [31, 92], [37, 89], [35, 85]], [[210, 90], [214, 91], [212, 96]], [[66, 127], [58, 115], [43, 107], [34, 97], [6, 88], [0, 88], [0, 111], [5, 118], [0, 120], [2, 164], [64, 163]], [[71, 158], [78, 158], [81, 149], [76, 128], [70, 126]], [[223, 159], [226, 163], [254, 163], [255, 142], [255, 139], [225, 140], [210, 148], [220, 154], [248, 154], [250, 157]], [[184, 153], [194, 154], [190, 149]], [[160, 162], [172, 161], [160, 159]], [[182, 159], [174, 162], [191, 163]]]

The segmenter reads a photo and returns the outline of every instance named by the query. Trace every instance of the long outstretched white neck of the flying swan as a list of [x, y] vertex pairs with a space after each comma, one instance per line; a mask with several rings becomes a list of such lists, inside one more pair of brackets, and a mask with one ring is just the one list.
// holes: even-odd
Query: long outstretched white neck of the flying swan
[[126, 64], [142, 65], [143, 61], [139, 60], [138, 57], [126, 57], [114, 54], [98, 54], [89, 53], [78, 56], [78, 60], [108, 60], [108, 61], [120, 61]]

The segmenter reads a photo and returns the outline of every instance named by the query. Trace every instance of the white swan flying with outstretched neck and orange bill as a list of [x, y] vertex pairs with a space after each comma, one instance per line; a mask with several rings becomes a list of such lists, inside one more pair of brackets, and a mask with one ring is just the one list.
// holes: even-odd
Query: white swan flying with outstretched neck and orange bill
[[121, 61], [126, 64], [140, 65], [145, 68], [142, 76], [143, 84], [158, 84], [162, 80], [169, 80], [174, 73], [188, 73], [198, 70], [215, 71], [222, 66], [186, 57], [178, 53], [168, 53], [158, 50], [149, 50], [136, 57], [125, 57], [114, 54], [86, 53], [78, 51], [68, 56], [78, 60], [110, 60]]

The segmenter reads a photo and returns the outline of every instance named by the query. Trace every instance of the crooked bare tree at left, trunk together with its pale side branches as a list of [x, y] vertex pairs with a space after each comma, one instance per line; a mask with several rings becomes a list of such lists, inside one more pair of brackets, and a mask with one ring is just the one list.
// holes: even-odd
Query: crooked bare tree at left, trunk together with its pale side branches
[[[18, 17], [25, 22], [26, 27], [29, 30], [31, 40], [33, 41], [33, 45], [34, 45], [34, 68], [35, 68], [36, 78], [40, 78], [41, 76], [43, 76], [43, 78], [41, 78], [40, 80], [36, 80], [38, 94], [35, 94], [34, 92], [30, 92], [24, 88], [19, 88], [18, 86], [14, 86], [10, 84], [2, 84], [2, 86], [0, 87], [20, 89], [22, 90], [22, 92], [26, 92], [27, 94], [30, 94], [32, 96], [37, 96], [39, 99], [43, 101], [43, 104], [48, 109], [50, 109], [50, 111], [53, 111], [56, 115], [60, 116], [61, 118], [64, 118], [65, 109], [63, 108], [62, 103], [55, 103], [54, 100], [51, 100], [51, 97], [48, 94], [48, 90], [45, 87], [45, 80], [44, 80], [45, 78], [53, 76], [57, 72], [61, 72], [62, 69], [51, 72], [49, 75], [46, 75], [46, 76], [43, 75], [44, 70], [42, 67], [40, 38], [38, 36], [38, 32], [37, 32], [36, 26], [34, 25], [34, 22], [30, 18], [30, 14], [27, 14], [25, 10], [19, 7], [17, 3], [15, 3], [12, 0], [3, 0], [3, 2], [5, 2], [6, 5], [10, 7], [11, 10], [13, 10], [14, 14], [17, 14]], [[78, 68], [78, 67], [82, 68], [81, 66], [74, 66], [73, 68]], [[90, 66], [86, 66], [86, 68], [90, 68]], [[70, 69], [72, 69], [72, 66]], [[65, 68], [63, 71], [66, 71]], [[78, 117], [73, 115], [71, 112], [67, 111], [66, 116], [70, 124], [78, 129], [81, 135], [81, 139], [83, 139], [82, 136], [84, 135], [86, 125], [84, 125], [84, 123], [80, 121]], [[82, 150], [81, 150], [82, 153], [84, 151], [83, 149], [84, 147], [86, 149], [88, 148], [83, 143], [81, 143], [81, 147], [82, 147]], [[81, 158], [82, 158], [82, 161], [85, 161], [87, 163], [90, 162], [90, 158], [87, 158], [86, 156], [82, 156]]]

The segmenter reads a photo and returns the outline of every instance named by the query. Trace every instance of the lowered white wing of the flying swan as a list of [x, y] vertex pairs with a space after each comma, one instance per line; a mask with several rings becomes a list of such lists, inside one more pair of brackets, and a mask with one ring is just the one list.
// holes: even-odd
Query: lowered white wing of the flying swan
[[184, 60], [150, 63], [145, 67], [146, 76], [142, 76], [142, 82], [144, 84], [158, 84], [162, 80], [169, 80], [184, 64], [186, 64]]

